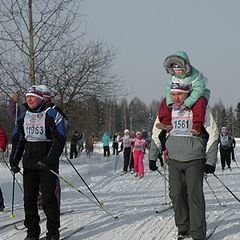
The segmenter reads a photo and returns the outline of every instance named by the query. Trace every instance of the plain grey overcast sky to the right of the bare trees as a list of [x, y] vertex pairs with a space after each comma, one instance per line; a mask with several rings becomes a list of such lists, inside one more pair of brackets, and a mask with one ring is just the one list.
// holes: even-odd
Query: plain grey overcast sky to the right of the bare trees
[[88, 37], [117, 51], [113, 71], [147, 104], [164, 95], [177, 50], [208, 78], [210, 104], [240, 101], [240, 0], [85, 0]]

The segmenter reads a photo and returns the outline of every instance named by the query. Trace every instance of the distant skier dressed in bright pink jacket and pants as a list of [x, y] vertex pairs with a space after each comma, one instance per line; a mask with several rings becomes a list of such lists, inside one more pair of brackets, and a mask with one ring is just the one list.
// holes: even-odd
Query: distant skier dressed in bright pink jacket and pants
[[134, 176], [143, 178], [144, 176], [144, 151], [148, 147], [148, 143], [145, 139], [143, 139], [142, 134], [140, 132], [136, 133], [136, 137], [132, 141], [132, 149], [133, 149], [133, 159], [134, 159]]

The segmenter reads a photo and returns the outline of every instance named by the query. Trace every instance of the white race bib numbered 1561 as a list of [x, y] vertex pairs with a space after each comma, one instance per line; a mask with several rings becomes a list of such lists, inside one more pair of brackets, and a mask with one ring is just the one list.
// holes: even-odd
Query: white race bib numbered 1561
[[170, 135], [173, 136], [192, 136], [192, 111], [189, 110], [172, 110], [172, 130]]

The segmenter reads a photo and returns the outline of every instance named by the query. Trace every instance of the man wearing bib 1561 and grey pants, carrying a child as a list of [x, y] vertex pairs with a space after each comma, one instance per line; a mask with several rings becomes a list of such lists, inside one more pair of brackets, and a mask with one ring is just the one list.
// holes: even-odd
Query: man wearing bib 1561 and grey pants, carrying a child
[[[179, 110], [189, 94], [185, 86], [175, 86], [171, 89], [171, 98], [178, 108], [169, 108], [166, 100], [162, 101], [161, 105], [164, 106], [161, 107], [166, 111], [165, 114], [170, 114], [173, 128], [167, 139], [162, 139], [166, 136], [166, 130], [161, 130], [160, 136], [161, 142], [166, 141], [165, 155], [169, 164], [170, 197], [178, 228], [177, 239], [185, 239], [190, 234], [193, 239], [204, 240], [206, 216], [203, 177], [204, 172], [209, 174], [215, 171], [218, 131], [208, 109], [200, 134], [192, 135], [192, 111]], [[152, 170], [153, 165], [152, 162]]]

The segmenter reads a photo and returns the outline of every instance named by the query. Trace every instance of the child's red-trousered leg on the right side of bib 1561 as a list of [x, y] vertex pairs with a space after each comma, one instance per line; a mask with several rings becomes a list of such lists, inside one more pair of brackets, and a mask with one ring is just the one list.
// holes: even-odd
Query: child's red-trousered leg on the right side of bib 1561
[[192, 106], [193, 113], [192, 133], [200, 134], [201, 126], [205, 122], [207, 104], [208, 100], [205, 97], [200, 97], [197, 100], [197, 102]]

